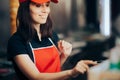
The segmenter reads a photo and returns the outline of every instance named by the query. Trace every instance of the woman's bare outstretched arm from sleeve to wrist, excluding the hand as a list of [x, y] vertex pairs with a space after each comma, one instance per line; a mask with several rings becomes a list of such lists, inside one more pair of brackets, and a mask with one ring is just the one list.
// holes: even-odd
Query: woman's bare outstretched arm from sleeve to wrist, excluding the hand
[[58, 73], [40, 73], [28, 55], [18, 55], [14, 58], [16, 64], [30, 80], [65, 80], [70, 77], [70, 70]]

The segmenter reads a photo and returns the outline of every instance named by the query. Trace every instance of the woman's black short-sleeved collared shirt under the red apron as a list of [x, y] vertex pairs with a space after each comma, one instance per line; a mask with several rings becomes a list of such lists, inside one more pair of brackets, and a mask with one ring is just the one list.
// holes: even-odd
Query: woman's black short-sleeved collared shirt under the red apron
[[[59, 38], [55, 32], [53, 32], [51, 39], [54, 42], [54, 44], [57, 45]], [[34, 48], [37, 48], [38, 45], [39, 47], [46, 47], [46, 46], [52, 45], [49, 42], [47, 37], [42, 38], [42, 40], [39, 41], [37, 35], [35, 35], [35, 37], [31, 40], [30, 43], [33, 45]], [[18, 75], [18, 78], [20, 80], [28, 80], [24, 76], [24, 74], [19, 70], [19, 68], [17, 67], [13, 59], [16, 55], [20, 55], [20, 54], [28, 54], [31, 60], [34, 62], [32, 50], [30, 48], [29, 43], [25, 42], [23, 37], [20, 36], [20, 34], [16, 32], [11, 36], [11, 38], [8, 41], [7, 56], [8, 56], [8, 60], [11, 60], [13, 62], [13, 66], [16, 71], [16, 74]]]

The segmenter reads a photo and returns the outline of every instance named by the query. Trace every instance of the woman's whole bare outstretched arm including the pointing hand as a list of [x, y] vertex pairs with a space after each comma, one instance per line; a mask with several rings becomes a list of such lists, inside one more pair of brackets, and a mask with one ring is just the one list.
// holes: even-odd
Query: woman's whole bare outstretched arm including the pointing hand
[[23, 74], [29, 78], [29, 80], [65, 80], [71, 76], [84, 73], [88, 70], [88, 64], [96, 64], [93, 61], [80, 61], [71, 70], [66, 70], [56, 73], [40, 73], [27, 54], [17, 55], [14, 58], [16, 64], [23, 72]]

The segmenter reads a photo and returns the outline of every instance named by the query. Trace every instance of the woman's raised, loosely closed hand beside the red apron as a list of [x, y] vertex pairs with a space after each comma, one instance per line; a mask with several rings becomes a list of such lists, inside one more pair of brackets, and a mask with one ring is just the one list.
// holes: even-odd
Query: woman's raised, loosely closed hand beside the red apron
[[72, 44], [69, 42], [66, 42], [64, 40], [60, 40], [58, 42], [58, 48], [62, 54], [64, 54], [65, 57], [68, 57], [71, 54], [72, 51]]

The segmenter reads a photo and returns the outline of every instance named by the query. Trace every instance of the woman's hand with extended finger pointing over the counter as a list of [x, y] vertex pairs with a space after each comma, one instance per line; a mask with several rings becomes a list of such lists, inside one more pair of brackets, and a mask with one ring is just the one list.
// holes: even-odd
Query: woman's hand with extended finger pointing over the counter
[[89, 70], [89, 65], [96, 65], [96, 61], [91, 60], [81, 60], [77, 65], [70, 71], [72, 77], [76, 77], [79, 74], [84, 74]]

